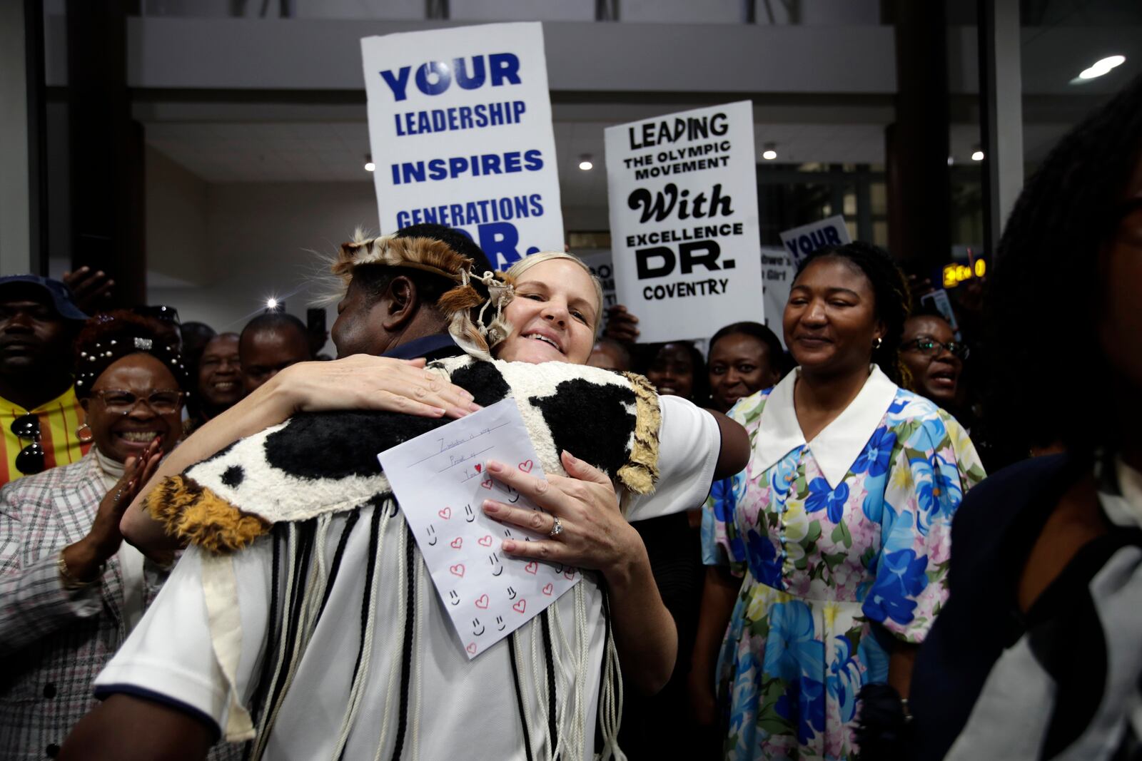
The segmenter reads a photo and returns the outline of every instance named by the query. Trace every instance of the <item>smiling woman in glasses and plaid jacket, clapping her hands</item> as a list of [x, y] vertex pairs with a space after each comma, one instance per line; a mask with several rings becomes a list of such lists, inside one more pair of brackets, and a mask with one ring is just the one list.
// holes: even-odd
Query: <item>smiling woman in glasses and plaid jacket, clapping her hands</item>
[[0, 756], [54, 756], [95, 705], [91, 681], [166, 572], [119, 532], [123, 509], [178, 440], [186, 373], [162, 326], [88, 321], [75, 394], [94, 442], [75, 463], [0, 489]]

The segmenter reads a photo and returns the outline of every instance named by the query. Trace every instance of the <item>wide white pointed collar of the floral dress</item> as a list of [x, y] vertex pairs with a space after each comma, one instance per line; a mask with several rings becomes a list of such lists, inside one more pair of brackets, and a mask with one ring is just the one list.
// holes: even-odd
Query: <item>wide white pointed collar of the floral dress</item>
[[[762, 472], [778, 463], [781, 458], [805, 444], [805, 435], [801, 432], [797, 412], [793, 404], [793, 388], [797, 382], [801, 369], [786, 375], [770, 391], [770, 398], [762, 410], [757, 423], [757, 436], [754, 439], [754, 456], [751, 470]], [[829, 486], [836, 488], [844, 480], [849, 468], [860, 456], [876, 427], [880, 424], [896, 396], [896, 384], [872, 365], [856, 398], [845, 407], [837, 419], [825, 427], [812, 442], [809, 450], [820, 465]]]

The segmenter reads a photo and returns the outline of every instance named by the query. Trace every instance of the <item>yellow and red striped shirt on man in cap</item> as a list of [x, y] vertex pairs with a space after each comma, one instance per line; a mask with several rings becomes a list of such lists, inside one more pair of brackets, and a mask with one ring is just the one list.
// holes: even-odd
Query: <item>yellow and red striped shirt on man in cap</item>
[[3, 431], [3, 453], [0, 456], [0, 486], [16, 480], [22, 473], [16, 469], [16, 455], [32, 442], [17, 438], [11, 432], [16, 418], [34, 413], [40, 419], [40, 446], [43, 447], [43, 468], [55, 468], [78, 462], [87, 454], [91, 444], [83, 444], [75, 436], [75, 429], [83, 422], [83, 408], [71, 387], [56, 398], [41, 404], [35, 410], [25, 410], [14, 402], [0, 397], [0, 430]]

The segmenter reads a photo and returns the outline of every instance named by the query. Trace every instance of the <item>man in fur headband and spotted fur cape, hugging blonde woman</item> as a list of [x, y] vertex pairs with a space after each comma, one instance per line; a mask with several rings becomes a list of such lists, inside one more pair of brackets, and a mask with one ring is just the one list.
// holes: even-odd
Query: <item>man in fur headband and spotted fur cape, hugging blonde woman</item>
[[[514, 399], [547, 473], [613, 485], [504, 476], [554, 515], [577, 501], [618, 510], [620, 494], [630, 520], [685, 510], [745, 465], [743, 431], [642, 378], [491, 359], [510, 284], [440, 240], [359, 240], [335, 272], [341, 340], [427, 357], [478, 405]], [[588, 570], [512, 635], [464, 653], [376, 456], [447, 422], [301, 413], [163, 480], [148, 520], [187, 549], [61, 758], [202, 759], [223, 736], [254, 759], [587, 760], [596, 728], [601, 755], [621, 758], [611, 622], [638, 604], [630, 590]], [[223, 420], [184, 447], [209, 454], [249, 424]]]

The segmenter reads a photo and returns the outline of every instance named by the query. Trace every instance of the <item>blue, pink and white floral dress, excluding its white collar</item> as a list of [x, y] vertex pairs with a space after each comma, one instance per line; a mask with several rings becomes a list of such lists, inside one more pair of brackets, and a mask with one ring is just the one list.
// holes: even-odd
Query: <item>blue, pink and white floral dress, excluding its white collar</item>
[[[730, 411], [755, 454], [772, 390]], [[703, 560], [745, 576], [717, 666], [726, 758], [846, 759], [885, 641], [920, 642], [947, 599], [951, 517], [983, 468], [951, 415], [903, 389], [836, 488], [804, 443], [756, 460], [703, 515]]]

